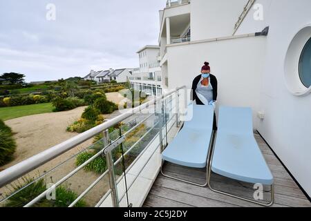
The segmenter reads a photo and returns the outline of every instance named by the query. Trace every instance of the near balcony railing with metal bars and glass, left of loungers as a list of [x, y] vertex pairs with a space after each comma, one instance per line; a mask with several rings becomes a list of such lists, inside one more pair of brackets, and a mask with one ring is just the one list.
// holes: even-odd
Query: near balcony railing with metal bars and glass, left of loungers
[[[142, 206], [152, 185], [150, 181], [156, 180], [160, 169], [162, 150], [174, 136], [172, 133], [178, 131], [182, 119], [179, 113], [184, 113], [182, 109], [178, 112], [183, 104], [180, 95], [184, 89], [185, 86], [176, 88], [130, 108], [118, 117], [1, 171], [0, 192], [6, 194], [0, 195], [0, 207], [17, 201], [18, 206], [24, 207]], [[109, 129], [116, 126], [118, 128], [109, 133]], [[79, 146], [84, 142], [90, 144], [94, 138], [97, 142], [91, 146]], [[95, 171], [91, 165], [96, 165]], [[59, 191], [72, 193], [73, 197], [65, 199], [62, 195], [62, 204], [57, 204], [57, 198], [61, 197]]]

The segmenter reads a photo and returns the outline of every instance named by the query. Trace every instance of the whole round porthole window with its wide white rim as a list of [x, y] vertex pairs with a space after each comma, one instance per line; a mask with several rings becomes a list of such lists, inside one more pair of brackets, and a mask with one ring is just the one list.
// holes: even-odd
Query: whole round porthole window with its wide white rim
[[293, 37], [284, 62], [285, 84], [295, 96], [311, 93], [311, 25]]

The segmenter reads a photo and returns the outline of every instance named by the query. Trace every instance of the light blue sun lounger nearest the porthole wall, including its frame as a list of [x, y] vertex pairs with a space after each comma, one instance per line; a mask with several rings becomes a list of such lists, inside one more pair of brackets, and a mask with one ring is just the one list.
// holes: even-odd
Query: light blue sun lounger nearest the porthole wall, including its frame
[[[220, 107], [213, 152], [208, 177], [211, 190], [263, 206], [273, 204], [273, 176], [254, 138], [251, 108]], [[211, 171], [234, 180], [271, 186], [271, 202], [263, 204], [212, 189]]]

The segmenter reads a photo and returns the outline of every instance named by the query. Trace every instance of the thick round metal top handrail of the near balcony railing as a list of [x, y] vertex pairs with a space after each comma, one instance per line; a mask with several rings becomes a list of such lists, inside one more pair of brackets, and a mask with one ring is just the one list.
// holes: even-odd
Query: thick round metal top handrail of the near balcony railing
[[62, 155], [63, 153], [66, 153], [67, 151], [70, 151], [72, 148], [75, 148], [75, 146], [82, 144], [86, 140], [95, 137], [95, 135], [102, 133], [103, 131], [106, 131], [106, 129], [108, 128], [111, 128], [111, 126], [115, 126], [115, 124], [118, 124], [119, 122], [122, 122], [124, 119], [133, 116], [135, 113], [139, 113], [142, 109], [148, 108], [149, 106], [154, 104], [158, 104], [158, 102], [164, 99], [164, 97], [172, 95], [173, 93], [176, 93], [178, 90], [181, 90], [182, 88], [186, 88], [186, 86], [180, 86], [169, 93], [161, 95], [160, 97], [156, 97], [151, 101], [142, 104], [141, 106], [138, 106], [137, 108], [133, 108], [130, 111], [111, 119], [109, 122], [105, 122], [103, 124], [100, 124], [99, 126], [96, 126], [95, 128], [91, 128], [90, 130], [82, 134], [79, 134], [69, 140], [66, 140], [65, 142], [62, 142], [61, 144], [53, 146], [52, 148], [49, 148], [46, 151], [43, 151], [33, 157], [30, 157], [27, 160], [20, 162], [19, 164], [16, 164], [15, 166], [12, 166], [6, 169], [5, 171], [1, 171], [0, 187], [5, 186], [6, 184], [9, 184], [14, 180], [17, 180], [19, 177], [22, 177], [26, 173], [29, 173], [30, 171], [37, 169], [39, 166], [46, 164], [46, 162], [55, 159], [56, 157]]

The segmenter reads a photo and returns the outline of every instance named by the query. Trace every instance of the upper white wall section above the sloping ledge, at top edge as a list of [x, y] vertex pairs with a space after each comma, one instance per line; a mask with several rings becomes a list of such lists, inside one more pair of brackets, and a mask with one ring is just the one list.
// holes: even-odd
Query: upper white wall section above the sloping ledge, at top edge
[[247, 0], [192, 0], [191, 41], [232, 35]]

